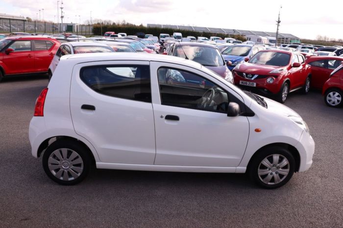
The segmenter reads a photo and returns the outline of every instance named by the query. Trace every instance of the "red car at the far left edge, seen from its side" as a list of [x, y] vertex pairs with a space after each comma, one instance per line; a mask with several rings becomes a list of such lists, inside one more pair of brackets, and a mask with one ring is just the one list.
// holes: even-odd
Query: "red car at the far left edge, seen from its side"
[[12, 36], [0, 40], [0, 80], [3, 76], [47, 73], [60, 43], [40, 36]]

